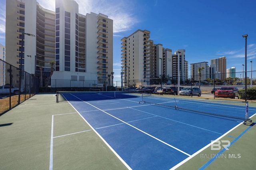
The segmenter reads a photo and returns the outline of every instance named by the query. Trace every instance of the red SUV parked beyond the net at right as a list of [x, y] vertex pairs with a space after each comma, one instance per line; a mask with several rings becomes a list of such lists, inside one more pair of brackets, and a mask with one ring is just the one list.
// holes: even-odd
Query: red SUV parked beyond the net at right
[[238, 88], [222, 87], [219, 90], [216, 90], [214, 95], [215, 97], [235, 98], [235, 97], [238, 97]]

